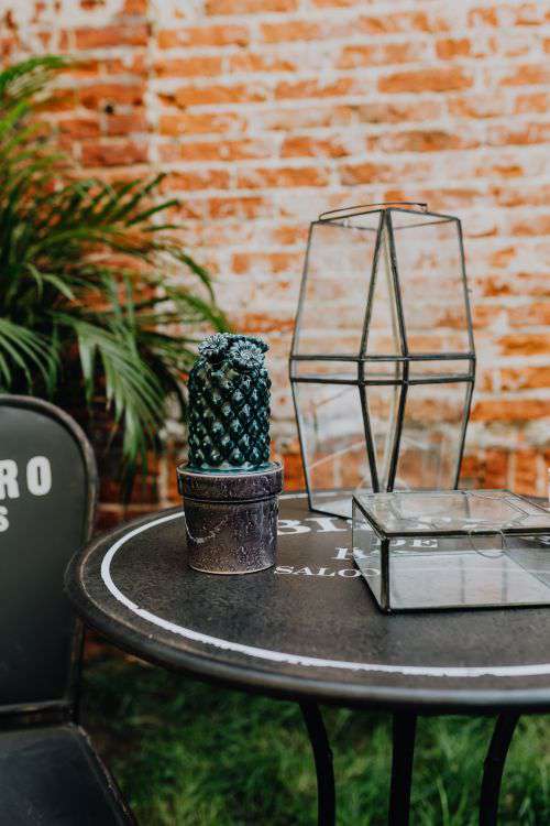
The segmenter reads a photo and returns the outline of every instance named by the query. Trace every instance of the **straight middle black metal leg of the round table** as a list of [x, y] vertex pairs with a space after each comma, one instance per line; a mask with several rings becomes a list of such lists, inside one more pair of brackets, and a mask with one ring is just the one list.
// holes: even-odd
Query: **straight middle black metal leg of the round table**
[[389, 826], [408, 826], [416, 721], [416, 714], [394, 714]]

